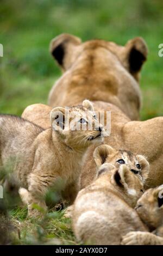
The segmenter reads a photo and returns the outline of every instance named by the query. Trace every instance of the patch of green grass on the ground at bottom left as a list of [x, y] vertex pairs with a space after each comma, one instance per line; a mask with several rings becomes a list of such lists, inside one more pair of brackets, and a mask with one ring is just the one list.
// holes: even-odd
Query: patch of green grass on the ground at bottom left
[[27, 218], [25, 207], [9, 211], [10, 220], [15, 227], [12, 244], [76, 245], [71, 220], [63, 215], [63, 211], [49, 210], [45, 218], [41, 220], [40, 218]]

